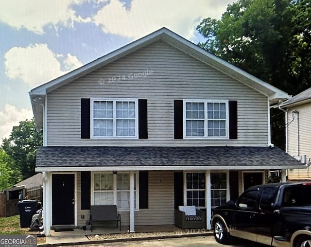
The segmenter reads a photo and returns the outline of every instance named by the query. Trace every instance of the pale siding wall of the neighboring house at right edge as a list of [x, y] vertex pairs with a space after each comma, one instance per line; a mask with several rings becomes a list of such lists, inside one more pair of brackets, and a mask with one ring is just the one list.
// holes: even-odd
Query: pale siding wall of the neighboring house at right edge
[[[294, 121], [292, 122], [294, 110], [299, 111], [299, 156], [306, 155], [306, 161], [309, 162], [311, 158], [311, 104], [289, 109], [287, 113], [288, 123], [290, 123], [287, 127], [287, 151], [292, 156], [298, 155], [297, 114], [294, 114]], [[289, 170], [288, 178], [291, 180], [311, 179], [310, 168]]]

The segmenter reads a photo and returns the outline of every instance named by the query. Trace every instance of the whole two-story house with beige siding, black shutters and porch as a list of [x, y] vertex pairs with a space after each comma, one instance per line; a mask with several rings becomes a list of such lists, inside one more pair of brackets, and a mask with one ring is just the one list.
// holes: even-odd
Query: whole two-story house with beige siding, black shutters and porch
[[[290, 96], [162, 28], [30, 92], [44, 145], [44, 227], [85, 226], [114, 204], [122, 225], [173, 225], [305, 167], [270, 142], [269, 106]], [[284, 173], [285, 174], [285, 173]], [[285, 180], [285, 176], [282, 177]]]

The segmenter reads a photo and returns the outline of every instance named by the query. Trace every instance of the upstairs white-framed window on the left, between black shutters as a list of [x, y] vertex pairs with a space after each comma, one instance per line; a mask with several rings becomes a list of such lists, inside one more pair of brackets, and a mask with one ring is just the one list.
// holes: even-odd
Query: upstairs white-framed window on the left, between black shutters
[[91, 106], [93, 138], [138, 137], [138, 100], [93, 99]]

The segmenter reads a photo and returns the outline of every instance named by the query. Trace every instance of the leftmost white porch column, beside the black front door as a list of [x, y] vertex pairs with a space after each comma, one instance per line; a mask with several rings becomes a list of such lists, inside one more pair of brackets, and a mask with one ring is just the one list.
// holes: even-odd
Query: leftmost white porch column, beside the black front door
[[44, 215], [43, 222], [45, 222], [45, 234], [51, 236], [51, 225], [52, 225], [52, 175], [51, 172], [46, 172], [45, 183], [45, 197], [43, 201]]

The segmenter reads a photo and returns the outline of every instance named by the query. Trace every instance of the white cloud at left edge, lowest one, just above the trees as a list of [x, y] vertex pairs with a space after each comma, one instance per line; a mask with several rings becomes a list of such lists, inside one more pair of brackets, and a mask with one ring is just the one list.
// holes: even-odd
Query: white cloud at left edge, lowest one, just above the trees
[[0, 111], [0, 141], [2, 138], [8, 138], [13, 126], [17, 126], [20, 121], [33, 118], [33, 112], [30, 109], [17, 109], [15, 106], [6, 104]]

